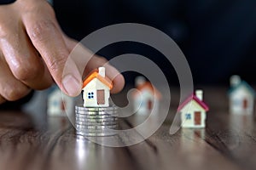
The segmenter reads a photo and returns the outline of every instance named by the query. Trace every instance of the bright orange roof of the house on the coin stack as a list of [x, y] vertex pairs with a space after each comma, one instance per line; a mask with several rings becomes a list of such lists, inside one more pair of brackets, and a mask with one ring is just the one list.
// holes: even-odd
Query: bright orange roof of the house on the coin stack
[[84, 83], [83, 83], [83, 88], [94, 78], [97, 78], [100, 80], [103, 84], [108, 86], [109, 89], [113, 88], [113, 83], [108, 77], [102, 77], [99, 73], [98, 70], [96, 69], [95, 71], [92, 71], [87, 77], [84, 78]]

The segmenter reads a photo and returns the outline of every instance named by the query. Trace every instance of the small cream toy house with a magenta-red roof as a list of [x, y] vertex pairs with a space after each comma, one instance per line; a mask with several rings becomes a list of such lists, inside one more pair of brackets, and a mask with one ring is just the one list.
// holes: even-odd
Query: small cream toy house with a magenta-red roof
[[181, 112], [181, 125], [188, 128], [206, 127], [208, 106], [203, 102], [202, 90], [196, 90], [182, 105], [177, 108]]

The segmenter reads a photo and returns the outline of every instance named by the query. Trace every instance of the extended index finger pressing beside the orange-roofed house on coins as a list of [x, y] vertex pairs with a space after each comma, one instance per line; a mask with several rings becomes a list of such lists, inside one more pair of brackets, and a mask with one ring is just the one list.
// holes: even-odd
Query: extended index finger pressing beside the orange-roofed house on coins
[[[55, 16], [50, 14], [28, 13], [23, 17], [28, 37], [44, 59], [50, 74], [58, 86], [66, 94], [76, 96], [82, 87], [81, 75], [74, 62], [66, 64], [69, 51], [55, 21]], [[62, 73], [66, 66], [66, 75]]]

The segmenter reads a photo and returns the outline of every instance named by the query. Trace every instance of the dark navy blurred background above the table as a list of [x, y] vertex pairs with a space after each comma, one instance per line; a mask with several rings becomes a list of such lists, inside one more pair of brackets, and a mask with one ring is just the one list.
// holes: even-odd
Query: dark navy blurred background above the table
[[[256, 80], [254, 0], [55, 0], [54, 8], [62, 29], [77, 40], [103, 26], [124, 22], [164, 31], [183, 50], [195, 84], [228, 84], [233, 74], [247, 82]], [[99, 52], [108, 59], [125, 53], [153, 59], [169, 82], [177, 82], [175, 71], [167, 71], [170, 65], [162, 62], [163, 57], [143, 44], [122, 42]], [[125, 78], [132, 82], [134, 77]]]

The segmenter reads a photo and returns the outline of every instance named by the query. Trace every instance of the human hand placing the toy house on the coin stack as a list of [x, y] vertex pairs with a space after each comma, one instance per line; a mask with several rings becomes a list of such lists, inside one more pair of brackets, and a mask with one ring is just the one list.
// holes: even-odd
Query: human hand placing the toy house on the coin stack
[[[17, 0], [1, 5], [0, 103], [20, 99], [31, 89], [49, 88], [53, 79], [66, 94], [80, 94], [82, 80], [78, 60], [66, 65], [70, 68], [62, 75], [68, 55], [76, 44], [61, 31], [53, 8], [45, 0]], [[90, 56], [89, 50], [81, 49], [84, 56]], [[106, 62], [94, 56], [85, 71]], [[113, 79], [112, 92], [117, 93], [124, 86], [124, 77], [111, 65], [106, 67], [107, 76]]]

